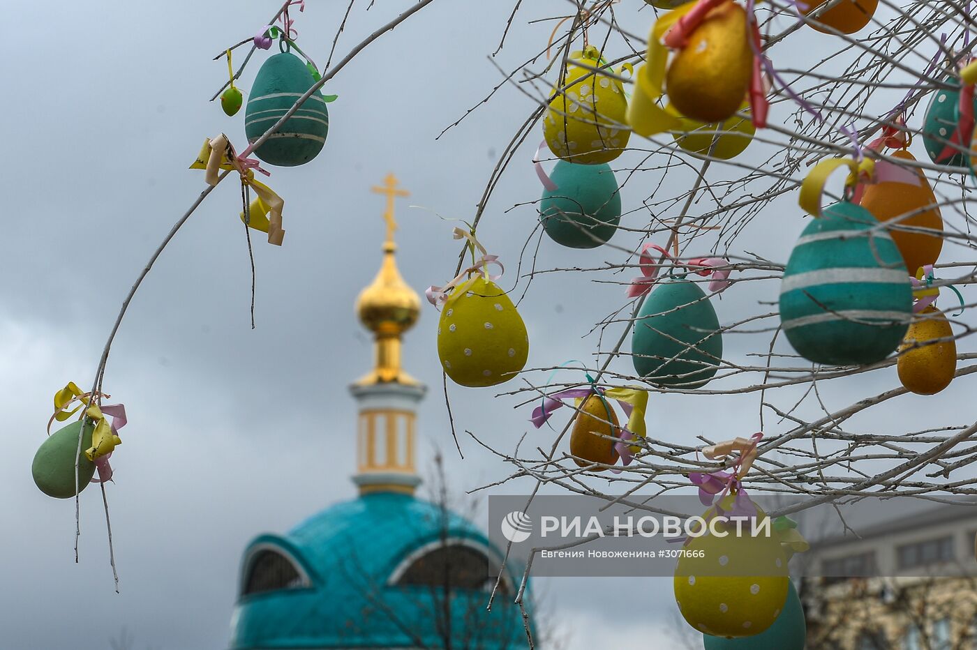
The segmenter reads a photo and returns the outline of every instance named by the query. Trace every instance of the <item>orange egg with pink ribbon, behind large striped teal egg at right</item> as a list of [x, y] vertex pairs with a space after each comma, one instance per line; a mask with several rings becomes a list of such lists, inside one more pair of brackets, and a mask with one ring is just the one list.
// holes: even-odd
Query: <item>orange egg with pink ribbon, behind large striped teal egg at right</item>
[[[902, 149], [893, 158], [915, 161], [913, 154]], [[894, 221], [899, 225], [943, 230], [943, 218], [929, 182], [922, 171], [916, 172], [919, 184], [882, 182], [871, 183], [862, 197], [862, 207], [880, 222]], [[932, 207], [930, 207], [932, 206]], [[928, 210], [922, 210], [929, 207]], [[917, 211], [922, 210], [922, 212]], [[903, 215], [912, 215], [903, 218]], [[943, 237], [938, 234], [889, 230], [892, 240], [903, 256], [906, 269], [915, 273], [920, 266], [935, 264], [943, 249]]]

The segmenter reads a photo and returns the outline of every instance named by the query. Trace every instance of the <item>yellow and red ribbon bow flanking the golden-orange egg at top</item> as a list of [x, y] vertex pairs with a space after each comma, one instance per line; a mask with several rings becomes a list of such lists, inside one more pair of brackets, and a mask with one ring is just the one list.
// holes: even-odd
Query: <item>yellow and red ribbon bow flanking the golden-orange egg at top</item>
[[[638, 68], [635, 76], [637, 90], [627, 106], [627, 123], [639, 136], [649, 137], [664, 131], [678, 129], [679, 118], [664, 110], [658, 101], [664, 94], [667, 48], [680, 50], [688, 44], [688, 38], [701, 24], [705, 16], [724, 2], [731, 0], [699, 0], [673, 9], [656, 20], [648, 36], [647, 63]], [[750, 20], [750, 47], [753, 49], [753, 72], [750, 79], [750, 118], [753, 126], [766, 126], [768, 102], [762, 77], [763, 57], [759, 50], [759, 27]]]

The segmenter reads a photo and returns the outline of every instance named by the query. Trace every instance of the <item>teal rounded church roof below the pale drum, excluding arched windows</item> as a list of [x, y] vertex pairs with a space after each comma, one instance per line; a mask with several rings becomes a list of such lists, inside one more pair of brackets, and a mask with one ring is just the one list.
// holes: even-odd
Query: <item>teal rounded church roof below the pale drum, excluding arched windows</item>
[[[244, 553], [232, 647], [446, 647], [447, 634], [453, 648], [524, 647], [511, 574], [509, 592], [490, 612], [484, 589], [452, 589], [448, 604], [443, 589], [399, 583], [413, 560], [446, 545], [479, 550], [497, 572], [501, 554], [472, 522], [405, 494], [365, 494], [284, 536], [262, 535]], [[292, 562], [297, 575], [285, 589], [245, 593], [255, 558], [267, 550]]]

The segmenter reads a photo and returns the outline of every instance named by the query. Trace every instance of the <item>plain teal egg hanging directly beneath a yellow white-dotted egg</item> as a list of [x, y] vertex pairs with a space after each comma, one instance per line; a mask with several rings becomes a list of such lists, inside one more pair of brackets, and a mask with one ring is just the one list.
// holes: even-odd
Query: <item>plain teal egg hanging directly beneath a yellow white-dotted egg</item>
[[611, 166], [557, 161], [550, 180], [557, 188], [543, 191], [539, 221], [550, 239], [570, 248], [606, 244], [620, 223], [620, 191]]

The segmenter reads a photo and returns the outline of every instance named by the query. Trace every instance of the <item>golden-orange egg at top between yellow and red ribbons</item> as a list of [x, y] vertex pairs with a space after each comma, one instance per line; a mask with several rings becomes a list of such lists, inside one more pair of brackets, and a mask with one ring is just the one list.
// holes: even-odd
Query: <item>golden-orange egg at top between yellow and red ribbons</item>
[[705, 15], [665, 73], [665, 92], [680, 113], [710, 124], [740, 108], [753, 74], [749, 38], [740, 5], [726, 2]]

